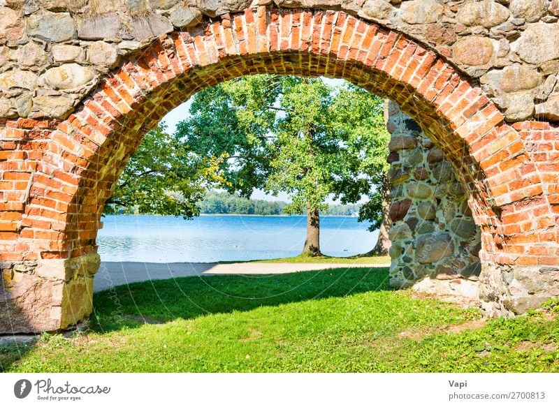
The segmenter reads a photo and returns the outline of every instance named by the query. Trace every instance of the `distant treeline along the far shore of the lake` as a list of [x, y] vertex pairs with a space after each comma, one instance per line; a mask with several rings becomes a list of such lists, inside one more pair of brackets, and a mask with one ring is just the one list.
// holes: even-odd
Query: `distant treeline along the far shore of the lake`
[[[200, 203], [203, 214], [239, 214], [239, 215], [281, 215], [287, 205], [283, 201], [240, 198], [226, 192], [208, 191]], [[360, 205], [328, 205], [323, 215], [354, 216], [358, 214]]]

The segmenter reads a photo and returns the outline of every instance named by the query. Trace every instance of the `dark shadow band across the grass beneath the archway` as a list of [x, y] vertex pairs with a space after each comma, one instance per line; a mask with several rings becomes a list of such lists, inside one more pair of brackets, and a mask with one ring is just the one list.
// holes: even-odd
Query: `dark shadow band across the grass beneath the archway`
[[379, 290], [389, 290], [388, 268], [143, 281], [95, 293], [91, 327], [96, 332], [110, 332], [144, 323]]

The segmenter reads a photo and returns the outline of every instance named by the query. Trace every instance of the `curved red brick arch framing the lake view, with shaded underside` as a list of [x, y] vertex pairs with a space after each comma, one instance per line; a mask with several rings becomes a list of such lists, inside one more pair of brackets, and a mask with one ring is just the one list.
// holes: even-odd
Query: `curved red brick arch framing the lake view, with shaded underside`
[[[66, 326], [89, 313], [81, 305], [90, 301], [83, 299], [87, 283], [73, 289], [68, 281], [96, 271], [103, 204], [143, 135], [197, 91], [258, 73], [340, 77], [391, 98], [467, 186], [484, 264], [556, 261], [557, 245], [543, 255], [525, 249], [551, 226], [549, 200], [521, 133], [478, 86], [433, 50], [378, 24], [341, 11], [260, 7], [175, 31], [127, 57], [41, 140], [15, 252], [37, 258], [43, 273], [64, 270], [53, 272], [64, 274], [66, 286], [52, 324]], [[542, 250], [549, 247], [542, 243]], [[490, 277], [487, 285], [498, 287]]]

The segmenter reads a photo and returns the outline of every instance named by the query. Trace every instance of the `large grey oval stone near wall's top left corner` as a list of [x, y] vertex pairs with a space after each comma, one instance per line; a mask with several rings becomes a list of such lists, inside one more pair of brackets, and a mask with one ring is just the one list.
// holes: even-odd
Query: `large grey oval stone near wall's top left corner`
[[27, 24], [30, 36], [52, 43], [61, 43], [75, 36], [74, 20], [68, 13], [31, 15]]

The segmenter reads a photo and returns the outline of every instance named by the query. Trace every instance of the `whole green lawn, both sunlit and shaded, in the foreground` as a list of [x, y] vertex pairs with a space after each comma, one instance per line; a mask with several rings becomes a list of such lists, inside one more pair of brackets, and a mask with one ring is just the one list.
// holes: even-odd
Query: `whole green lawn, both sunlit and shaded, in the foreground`
[[133, 283], [94, 295], [89, 332], [0, 348], [0, 364], [29, 372], [559, 371], [557, 311], [484, 325], [477, 310], [387, 288], [388, 270], [367, 268]]

